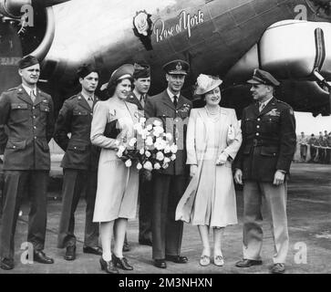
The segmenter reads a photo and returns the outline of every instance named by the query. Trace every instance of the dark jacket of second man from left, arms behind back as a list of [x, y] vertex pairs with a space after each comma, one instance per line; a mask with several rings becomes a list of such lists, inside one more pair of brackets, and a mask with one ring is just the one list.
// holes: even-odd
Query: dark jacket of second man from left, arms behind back
[[[94, 97], [93, 108], [98, 102]], [[77, 170], [98, 170], [99, 148], [90, 141], [93, 109], [79, 93], [67, 99], [60, 110], [54, 140], [66, 151], [61, 167]], [[71, 133], [71, 137], [68, 137]]]

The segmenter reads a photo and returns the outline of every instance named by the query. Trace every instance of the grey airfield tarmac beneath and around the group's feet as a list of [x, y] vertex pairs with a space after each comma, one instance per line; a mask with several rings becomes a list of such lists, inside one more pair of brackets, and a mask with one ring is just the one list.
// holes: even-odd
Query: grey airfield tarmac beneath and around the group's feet
[[[288, 183], [287, 216], [290, 247], [287, 255], [286, 274], [331, 273], [331, 165], [293, 163]], [[54, 265], [21, 263], [22, 243], [26, 241], [28, 204], [22, 205], [23, 214], [16, 227], [16, 266], [13, 270], [0, 269], [0, 274], [104, 274], [98, 255], [83, 254], [85, 202], [80, 200], [76, 212], [77, 259], [68, 262], [63, 258], [64, 249], [57, 249], [57, 227], [61, 201], [61, 173], [55, 162], [51, 171], [48, 192], [47, 242], [45, 252], [55, 259]], [[243, 192], [237, 191], [238, 224], [225, 229], [222, 253], [225, 265], [199, 266], [202, 244], [196, 226], [184, 224], [181, 255], [189, 257], [186, 265], [168, 262], [167, 269], [152, 265], [151, 247], [138, 244], [138, 219], [129, 221], [128, 238], [131, 250], [125, 253], [134, 266], [134, 274], [268, 274], [274, 253], [270, 224], [264, 222], [264, 247], [262, 266], [239, 268], [235, 262], [242, 257]], [[211, 233], [212, 239], [212, 233]], [[131, 272], [119, 270], [121, 274]]]

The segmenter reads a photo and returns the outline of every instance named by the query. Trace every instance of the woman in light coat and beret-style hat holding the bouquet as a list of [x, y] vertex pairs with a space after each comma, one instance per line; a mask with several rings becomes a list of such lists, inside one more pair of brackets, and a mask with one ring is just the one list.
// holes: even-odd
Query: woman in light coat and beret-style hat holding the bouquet
[[120, 142], [134, 136], [133, 125], [138, 121], [137, 106], [125, 101], [131, 90], [132, 73], [133, 66], [129, 64], [113, 72], [109, 80], [113, 95], [96, 104], [91, 126], [91, 141], [101, 147], [93, 222], [100, 223], [103, 254], [99, 261], [109, 274], [119, 273], [117, 266], [133, 269], [122, 255], [122, 249], [128, 219], [136, 216], [139, 172], [135, 167], [126, 167], [117, 156]]

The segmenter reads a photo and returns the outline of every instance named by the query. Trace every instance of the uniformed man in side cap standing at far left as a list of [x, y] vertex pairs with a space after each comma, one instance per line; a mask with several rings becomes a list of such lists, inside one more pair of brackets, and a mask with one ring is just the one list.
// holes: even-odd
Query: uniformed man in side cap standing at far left
[[[33, 259], [54, 260], [43, 252], [47, 226], [47, 180], [50, 168], [48, 141], [54, 131], [52, 98], [36, 87], [40, 66], [36, 57], [18, 63], [22, 84], [0, 97], [0, 153], [4, 153], [4, 212], [1, 232], [1, 268], [14, 268], [14, 236], [22, 196], [31, 202], [27, 242]], [[6, 128], [6, 131], [5, 131]]]

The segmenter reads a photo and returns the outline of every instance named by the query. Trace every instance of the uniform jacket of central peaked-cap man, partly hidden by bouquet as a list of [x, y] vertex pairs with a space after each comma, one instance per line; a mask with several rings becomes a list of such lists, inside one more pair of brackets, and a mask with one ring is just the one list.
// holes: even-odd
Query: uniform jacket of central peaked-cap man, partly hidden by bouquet
[[186, 130], [192, 108], [191, 100], [179, 97], [177, 107], [171, 101], [167, 90], [147, 99], [145, 116], [147, 119], [158, 118], [163, 123], [165, 132], [170, 132], [178, 146], [176, 160], [170, 162], [169, 167], [160, 173], [171, 175], [187, 174], [186, 166]]

